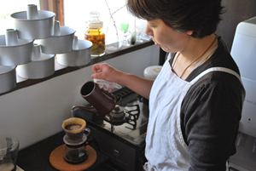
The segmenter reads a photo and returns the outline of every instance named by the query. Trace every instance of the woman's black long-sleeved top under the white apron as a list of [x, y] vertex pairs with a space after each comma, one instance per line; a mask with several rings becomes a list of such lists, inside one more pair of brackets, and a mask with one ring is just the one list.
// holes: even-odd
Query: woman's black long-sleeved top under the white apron
[[[174, 55], [169, 60], [172, 65]], [[190, 82], [211, 67], [226, 67], [240, 74], [224, 42], [201, 66], [192, 71]], [[236, 135], [245, 90], [230, 73], [212, 71], [201, 77], [185, 95], [181, 106], [183, 138], [189, 146], [189, 171], [225, 170], [225, 162], [236, 153]]]

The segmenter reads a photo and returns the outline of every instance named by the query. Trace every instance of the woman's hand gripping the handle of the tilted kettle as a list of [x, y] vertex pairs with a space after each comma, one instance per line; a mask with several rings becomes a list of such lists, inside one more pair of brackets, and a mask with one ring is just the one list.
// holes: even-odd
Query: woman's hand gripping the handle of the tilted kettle
[[119, 83], [118, 76], [121, 73], [121, 71], [114, 69], [112, 66], [109, 66], [106, 63], [96, 64], [92, 66], [92, 72], [92, 78], [103, 79], [108, 82]]

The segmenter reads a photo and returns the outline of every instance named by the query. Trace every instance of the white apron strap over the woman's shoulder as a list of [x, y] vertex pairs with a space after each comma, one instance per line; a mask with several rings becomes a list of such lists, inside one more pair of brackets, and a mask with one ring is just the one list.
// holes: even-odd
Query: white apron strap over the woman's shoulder
[[[234, 75], [237, 77], [237, 79], [240, 81], [241, 83], [241, 77], [236, 73], [236, 71], [230, 70], [229, 68], [225, 68], [225, 67], [212, 67], [207, 69], [206, 71], [201, 72], [201, 74], [199, 74], [197, 77], [195, 77], [190, 84], [194, 84], [196, 83], [201, 77], [203, 77], [204, 75], [206, 75], [207, 73], [211, 72], [211, 71], [224, 71], [227, 73], [230, 73], [231, 75]], [[241, 83], [242, 85], [242, 83]]]

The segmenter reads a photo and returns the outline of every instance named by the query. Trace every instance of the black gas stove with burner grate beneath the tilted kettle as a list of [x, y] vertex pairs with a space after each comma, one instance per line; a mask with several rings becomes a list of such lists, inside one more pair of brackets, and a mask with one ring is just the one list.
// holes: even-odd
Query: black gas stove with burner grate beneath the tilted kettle
[[126, 87], [113, 92], [113, 95], [117, 103], [109, 114], [103, 116], [76, 109], [73, 116], [86, 121], [97, 150], [108, 156], [113, 168], [143, 170], [148, 101]]

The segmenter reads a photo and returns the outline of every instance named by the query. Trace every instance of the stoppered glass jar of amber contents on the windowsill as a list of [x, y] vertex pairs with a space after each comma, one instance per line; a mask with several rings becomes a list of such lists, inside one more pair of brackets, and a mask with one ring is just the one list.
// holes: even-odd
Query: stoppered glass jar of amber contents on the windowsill
[[99, 20], [100, 13], [90, 12], [90, 20], [86, 21], [84, 39], [92, 43], [91, 56], [105, 54], [105, 34], [102, 31], [103, 22]]

